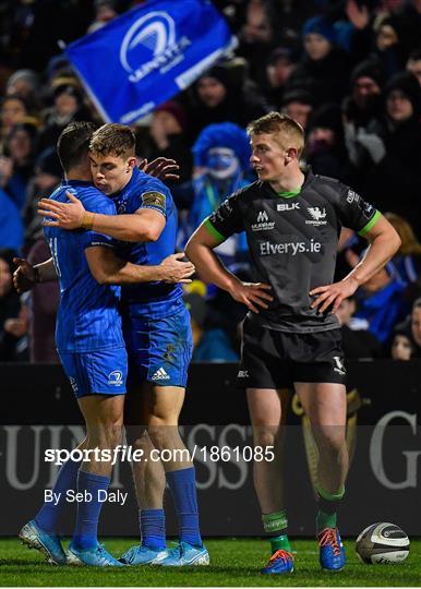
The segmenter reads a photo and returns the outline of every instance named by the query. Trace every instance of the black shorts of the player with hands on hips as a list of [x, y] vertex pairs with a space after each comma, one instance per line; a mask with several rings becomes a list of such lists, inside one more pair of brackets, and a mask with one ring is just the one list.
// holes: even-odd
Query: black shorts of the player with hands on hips
[[297, 382], [345, 384], [340, 329], [291, 334], [246, 317], [238, 386], [287, 388]]

